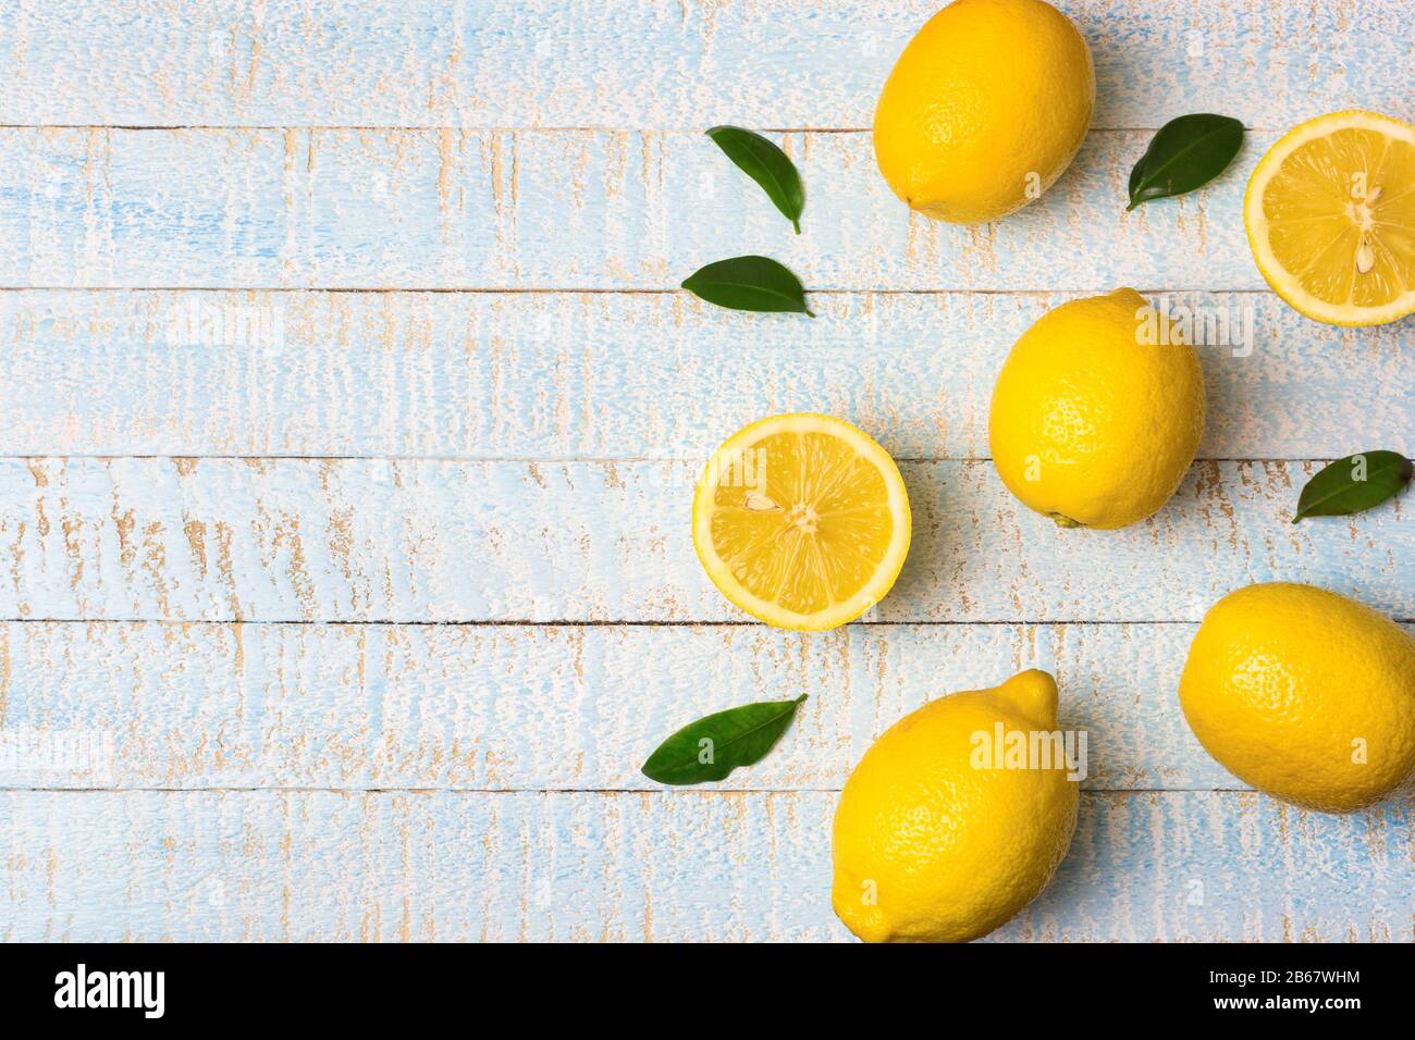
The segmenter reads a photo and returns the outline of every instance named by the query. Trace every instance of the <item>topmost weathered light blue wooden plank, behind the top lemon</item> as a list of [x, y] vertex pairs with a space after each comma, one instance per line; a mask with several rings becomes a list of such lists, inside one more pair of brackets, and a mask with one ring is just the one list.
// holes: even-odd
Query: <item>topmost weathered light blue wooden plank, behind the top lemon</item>
[[[942, 6], [20, 4], [0, 37], [0, 122], [865, 127]], [[1213, 110], [1285, 129], [1313, 96], [1409, 115], [1392, 75], [1409, 57], [1401, 0], [1058, 6], [1091, 44], [1099, 126]]]

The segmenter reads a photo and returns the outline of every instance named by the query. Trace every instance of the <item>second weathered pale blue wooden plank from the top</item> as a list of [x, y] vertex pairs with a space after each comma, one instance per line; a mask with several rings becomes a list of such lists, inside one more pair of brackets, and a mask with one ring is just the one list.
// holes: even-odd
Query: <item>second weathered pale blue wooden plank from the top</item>
[[1240, 214], [1274, 134], [1126, 214], [1149, 137], [1094, 132], [1036, 205], [959, 228], [910, 215], [869, 134], [785, 134], [798, 236], [700, 133], [0, 129], [0, 233], [23, 246], [0, 286], [672, 290], [757, 252], [808, 289], [1265, 289]]

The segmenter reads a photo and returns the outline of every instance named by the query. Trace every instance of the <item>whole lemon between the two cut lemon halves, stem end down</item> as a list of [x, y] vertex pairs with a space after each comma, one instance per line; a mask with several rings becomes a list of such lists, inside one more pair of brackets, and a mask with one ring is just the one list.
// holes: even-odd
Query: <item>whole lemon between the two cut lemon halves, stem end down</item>
[[1156, 512], [1203, 433], [1199, 355], [1133, 289], [1043, 314], [1007, 354], [988, 423], [1002, 483], [1068, 528]]

